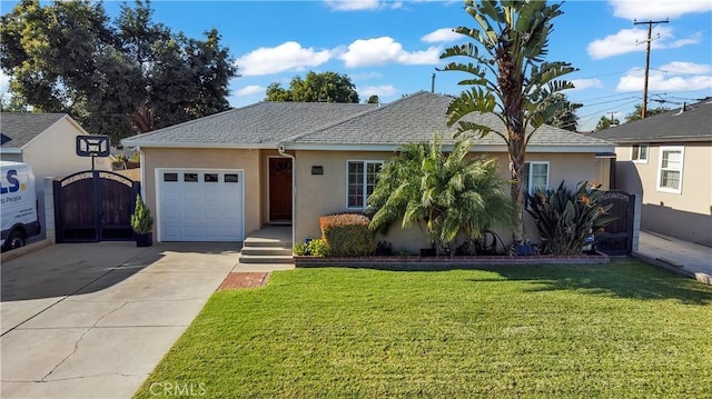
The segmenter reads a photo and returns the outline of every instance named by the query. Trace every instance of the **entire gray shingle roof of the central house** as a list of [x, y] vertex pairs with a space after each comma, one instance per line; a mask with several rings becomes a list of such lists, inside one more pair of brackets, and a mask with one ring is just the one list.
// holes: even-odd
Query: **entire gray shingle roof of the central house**
[[[122, 140], [125, 146], [220, 147], [295, 143], [303, 146], [393, 146], [449, 137], [446, 111], [451, 98], [421, 91], [387, 104], [259, 102]], [[473, 116], [504, 131], [492, 114]], [[496, 134], [478, 146], [503, 146]], [[611, 142], [542, 126], [530, 146], [613, 147]]]

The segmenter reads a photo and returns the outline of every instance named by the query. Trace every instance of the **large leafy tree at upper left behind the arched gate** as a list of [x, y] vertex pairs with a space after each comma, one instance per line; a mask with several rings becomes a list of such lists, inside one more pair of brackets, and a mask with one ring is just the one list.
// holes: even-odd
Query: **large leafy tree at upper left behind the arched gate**
[[151, 20], [148, 0], [22, 0], [0, 17], [0, 63], [14, 102], [66, 112], [91, 133], [123, 137], [225, 111], [237, 67], [216, 29], [204, 39]]

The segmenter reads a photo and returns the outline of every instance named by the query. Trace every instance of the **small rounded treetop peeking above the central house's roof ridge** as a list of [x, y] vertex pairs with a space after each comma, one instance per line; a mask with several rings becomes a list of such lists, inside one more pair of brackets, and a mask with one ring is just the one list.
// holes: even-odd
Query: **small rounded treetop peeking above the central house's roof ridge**
[[279, 82], [267, 87], [266, 101], [358, 102], [358, 93], [347, 74], [309, 71], [306, 78], [291, 78], [289, 88]]

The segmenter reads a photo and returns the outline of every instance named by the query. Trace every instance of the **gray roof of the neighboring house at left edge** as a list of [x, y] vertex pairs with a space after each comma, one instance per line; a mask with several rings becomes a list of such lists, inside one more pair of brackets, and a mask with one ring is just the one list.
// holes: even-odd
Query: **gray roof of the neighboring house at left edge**
[[[57, 123], [66, 113], [0, 113], [2, 148], [22, 148], [39, 133]], [[7, 139], [6, 139], [7, 138]]]

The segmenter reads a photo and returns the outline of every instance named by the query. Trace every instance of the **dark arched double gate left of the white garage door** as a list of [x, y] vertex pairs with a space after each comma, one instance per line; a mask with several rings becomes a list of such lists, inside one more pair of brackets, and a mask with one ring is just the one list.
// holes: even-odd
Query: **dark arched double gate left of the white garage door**
[[105, 170], [55, 181], [57, 242], [131, 241], [140, 183]]

